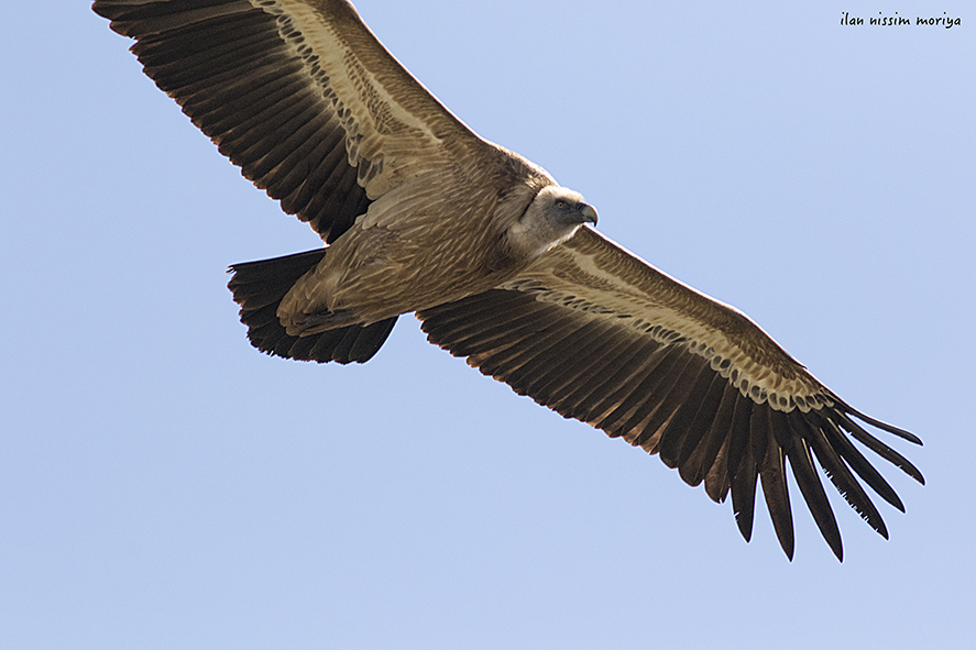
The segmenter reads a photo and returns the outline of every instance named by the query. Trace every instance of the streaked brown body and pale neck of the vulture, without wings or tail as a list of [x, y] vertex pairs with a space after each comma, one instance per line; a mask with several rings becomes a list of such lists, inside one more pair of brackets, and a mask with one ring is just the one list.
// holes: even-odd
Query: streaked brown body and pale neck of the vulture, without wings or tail
[[[288, 291], [278, 318], [293, 334], [322, 331], [321, 324], [301, 323], [323, 311], [346, 310], [354, 322], [369, 324], [511, 279], [574, 232], [547, 232], [537, 223], [545, 220], [533, 219], [544, 183], [549, 181], [549, 192], [561, 190], [559, 196], [580, 200], [535, 170], [512, 176], [501, 196], [498, 183], [475, 181], [483, 191], [456, 192], [449, 185], [425, 183], [421, 189], [438, 188], [438, 196], [408, 187], [380, 198]], [[461, 218], [440, 219], [445, 212]]]

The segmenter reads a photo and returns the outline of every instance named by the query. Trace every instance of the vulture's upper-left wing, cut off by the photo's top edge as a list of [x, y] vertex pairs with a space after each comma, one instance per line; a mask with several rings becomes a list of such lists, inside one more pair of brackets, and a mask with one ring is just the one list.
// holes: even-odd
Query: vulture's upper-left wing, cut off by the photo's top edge
[[[97, 0], [145, 74], [220, 152], [327, 242], [406, 183], [478, 178], [475, 135], [346, 0]], [[468, 185], [464, 184], [467, 187]]]

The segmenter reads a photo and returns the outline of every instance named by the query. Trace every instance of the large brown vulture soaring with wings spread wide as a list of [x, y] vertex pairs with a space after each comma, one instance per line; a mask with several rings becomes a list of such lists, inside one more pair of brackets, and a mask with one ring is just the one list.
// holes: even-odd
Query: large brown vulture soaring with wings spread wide
[[[753, 530], [761, 486], [787, 557], [787, 467], [827, 544], [818, 465], [885, 538], [853, 444], [920, 483], [856, 410], [743, 312], [601, 235], [596, 210], [445, 108], [348, 0], [97, 0], [161, 90], [325, 246], [234, 264], [248, 338], [285, 359], [369, 361], [415, 312], [430, 342], [519, 395], [658, 454]], [[814, 463], [814, 458], [816, 462]]]

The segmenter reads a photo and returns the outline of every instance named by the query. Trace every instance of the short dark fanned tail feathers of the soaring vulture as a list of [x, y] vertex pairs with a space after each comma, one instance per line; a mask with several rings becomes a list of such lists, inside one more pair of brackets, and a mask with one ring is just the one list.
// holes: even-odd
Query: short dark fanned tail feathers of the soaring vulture
[[248, 339], [252, 345], [285, 359], [319, 363], [364, 363], [376, 354], [397, 317], [306, 337], [289, 335], [278, 320], [277, 309], [282, 298], [325, 255], [326, 249], [318, 249], [230, 267], [233, 276], [227, 287], [241, 306], [241, 322], [248, 326]]

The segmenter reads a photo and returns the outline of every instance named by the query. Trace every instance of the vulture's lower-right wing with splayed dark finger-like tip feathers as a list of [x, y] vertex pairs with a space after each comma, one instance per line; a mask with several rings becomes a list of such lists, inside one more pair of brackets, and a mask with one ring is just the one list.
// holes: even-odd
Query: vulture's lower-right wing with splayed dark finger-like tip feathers
[[841, 535], [813, 456], [880, 535], [860, 481], [903, 510], [849, 437], [921, 473], [855, 419], [920, 441], [853, 409], [736, 309], [672, 279], [590, 228], [515, 279], [417, 315], [429, 340], [567, 418], [657, 453], [716, 502], [732, 493], [746, 540], [757, 484], [792, 558], [786, 466], [821, 532]]

